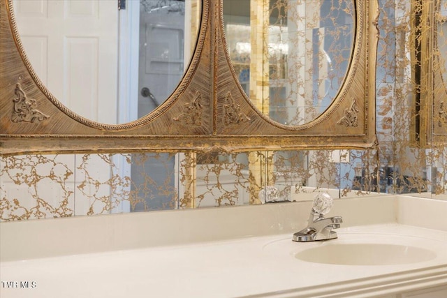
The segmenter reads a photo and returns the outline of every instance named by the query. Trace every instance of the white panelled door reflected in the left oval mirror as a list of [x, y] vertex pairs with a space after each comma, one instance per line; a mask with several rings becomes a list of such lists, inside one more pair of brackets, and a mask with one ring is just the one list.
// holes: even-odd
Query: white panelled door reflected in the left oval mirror
[[16, 0], [14, 9], [27, 57], [50, 92], [82, 117], [115, 124], [116, 3]]

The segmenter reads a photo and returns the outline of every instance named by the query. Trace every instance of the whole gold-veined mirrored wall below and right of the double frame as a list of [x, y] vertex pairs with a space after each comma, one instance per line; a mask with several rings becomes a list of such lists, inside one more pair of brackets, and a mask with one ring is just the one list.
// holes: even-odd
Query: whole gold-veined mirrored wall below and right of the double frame
[[[376, 147], [2, 156], [0, 220], [263, 204], [318, 191], [447, 200], [447, 2], [379, 6]], [[432, 50], [420, 45], [426, 30]]]

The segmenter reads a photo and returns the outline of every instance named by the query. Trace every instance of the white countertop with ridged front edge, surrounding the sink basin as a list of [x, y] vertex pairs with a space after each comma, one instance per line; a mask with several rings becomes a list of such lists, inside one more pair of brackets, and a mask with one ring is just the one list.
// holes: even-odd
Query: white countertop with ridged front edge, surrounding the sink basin
[[[337, 232], [338, 239], [313, 244], [293, 242], [287, 233], [2, 262], [2, 283], [28, 281], [29, 288], [8, 288], [3, 284], [0, 296], [318, 297], [336, 291], [340, 297], [370, 297], [365, 291], [386, 294], [390, 289], [387, 292], [383, 285], [390, 283], [406, 290], [447, 284], [446, 231], [384, 223], [341, 228]], [[437, 257], [378, 266], [325, 265], [293, 257], [297, 251], [332, 241], [374, 241], [368, 240], [374, 239], [374, 234], [396, 243], [405, 237], [411, 245], [435, 251]]]

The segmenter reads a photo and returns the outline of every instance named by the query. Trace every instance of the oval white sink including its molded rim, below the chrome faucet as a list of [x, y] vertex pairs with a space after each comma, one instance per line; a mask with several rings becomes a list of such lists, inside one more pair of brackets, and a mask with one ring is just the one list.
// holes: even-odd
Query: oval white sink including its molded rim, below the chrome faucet
[[321, 265], [388, 266], [411, 265], [439, 258], [445, 241], [413, 235], [339, 232], [338, 239], [295, 242], [291, 237], [263, 246], [265, 255]]

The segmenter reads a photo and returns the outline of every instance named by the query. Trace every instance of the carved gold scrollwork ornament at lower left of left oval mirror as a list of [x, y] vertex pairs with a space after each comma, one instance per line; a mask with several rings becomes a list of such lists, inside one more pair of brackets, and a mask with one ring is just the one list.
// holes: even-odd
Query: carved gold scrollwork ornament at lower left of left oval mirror
[[22, 89], [20, 83], [15, 84], [15, 98], [13, 99], [14, 109], [11, 114], [11, 121], [18, 122], [36, 122], [50, 118], [43, 112], [36, 110], [36, 100], [27, 98], [27, 94]]

